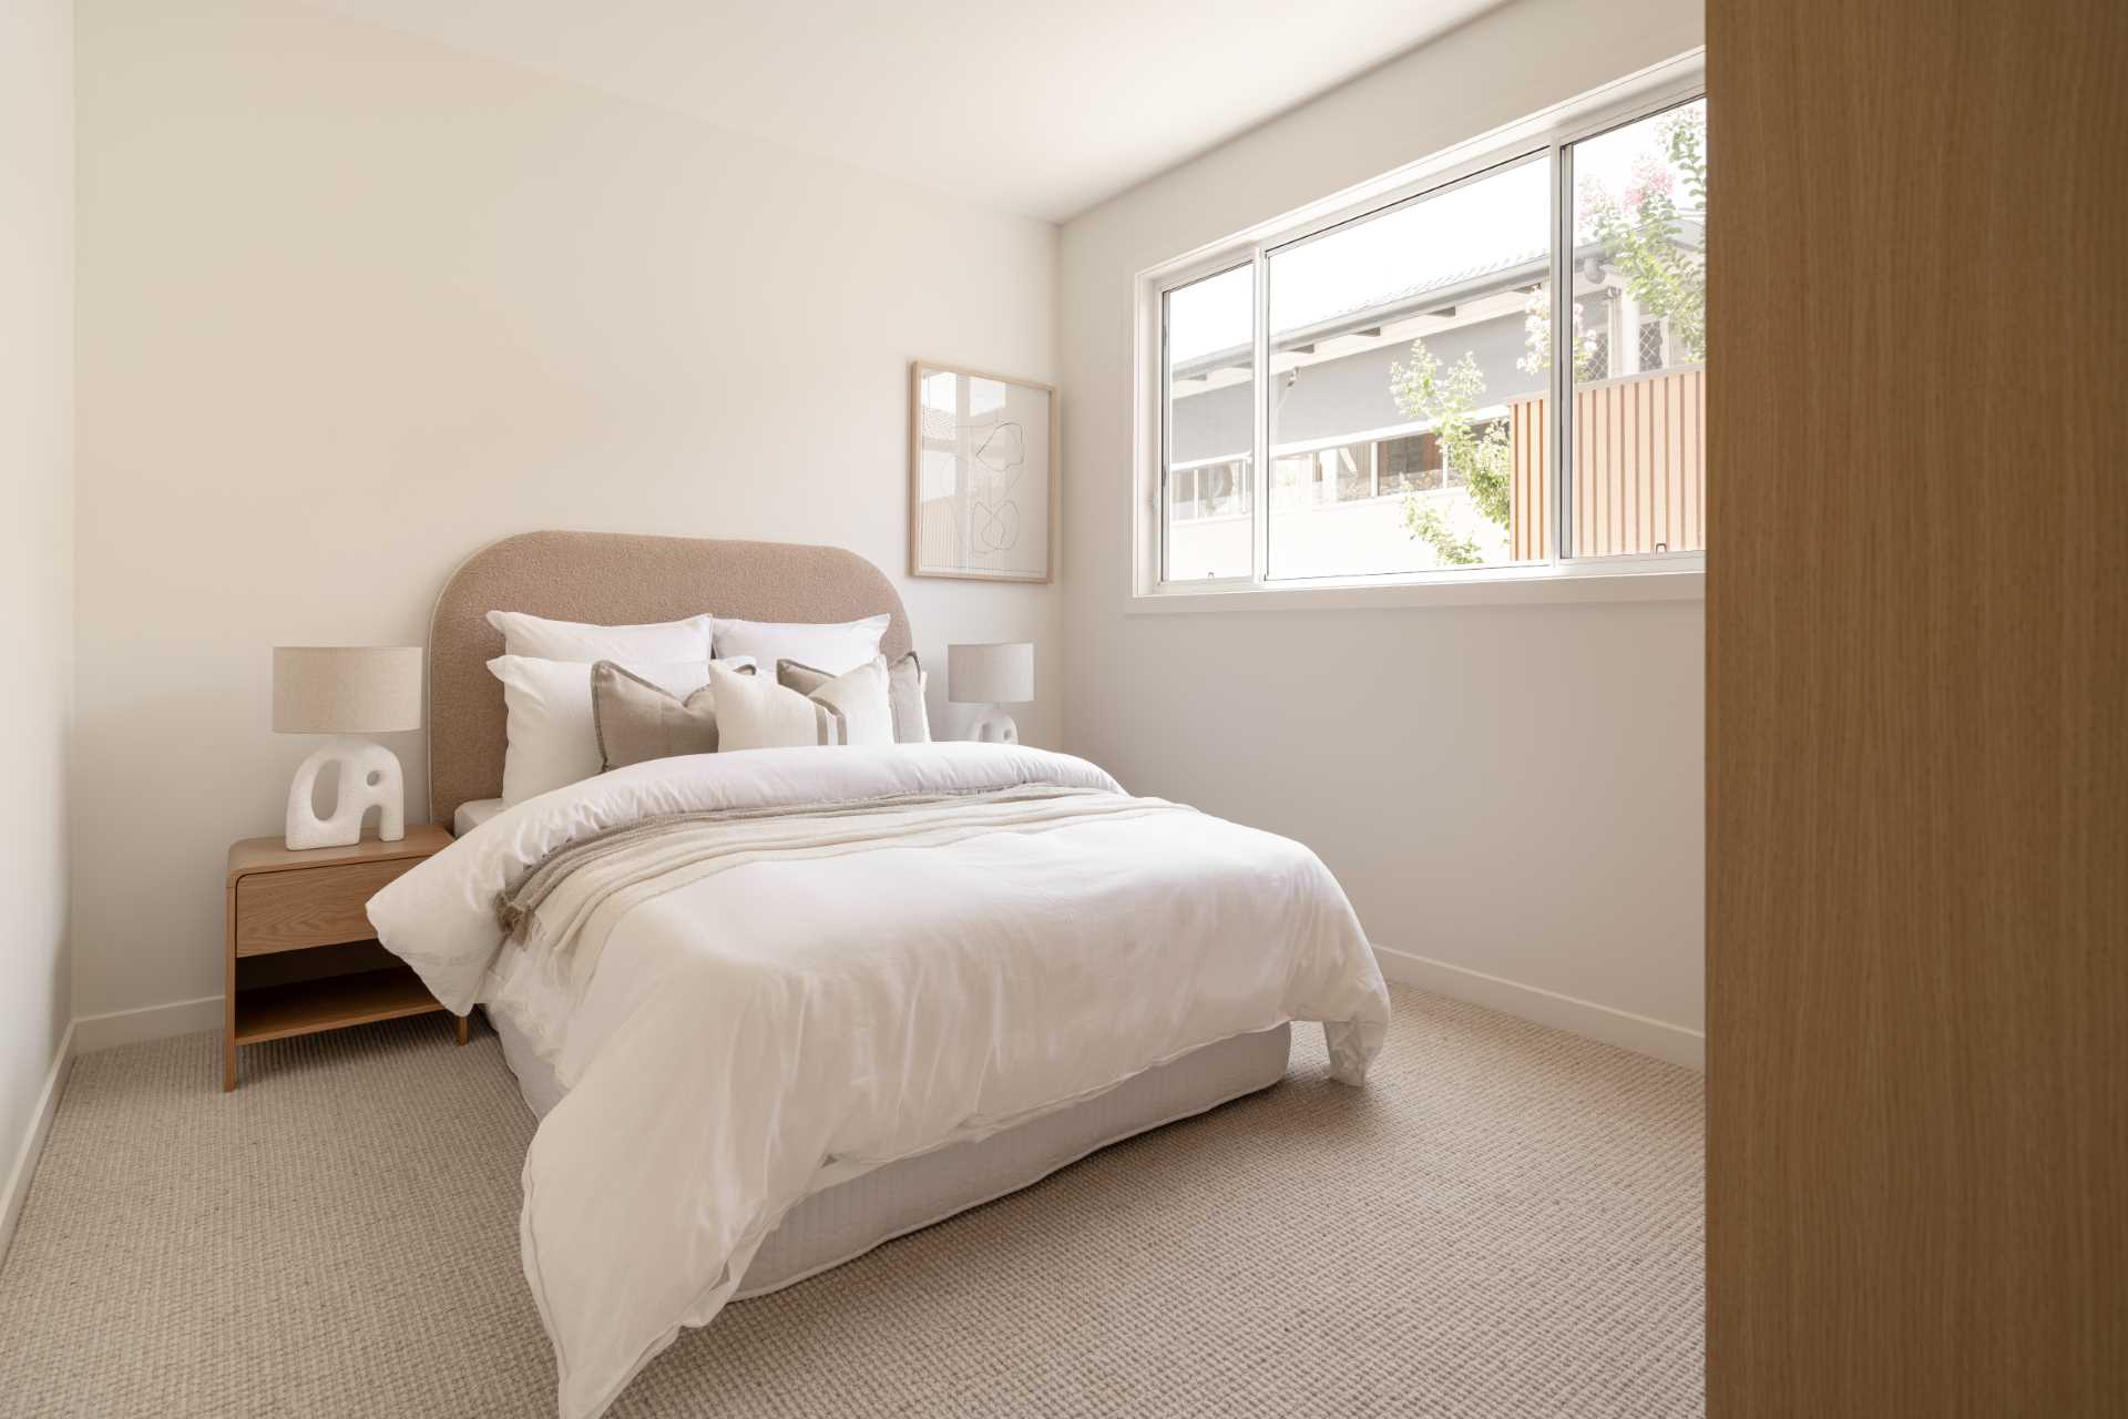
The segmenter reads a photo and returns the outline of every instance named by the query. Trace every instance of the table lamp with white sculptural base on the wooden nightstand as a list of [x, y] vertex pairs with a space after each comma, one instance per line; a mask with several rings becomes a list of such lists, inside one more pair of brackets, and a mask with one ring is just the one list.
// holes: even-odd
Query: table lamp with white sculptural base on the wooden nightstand
[[[398, 755], [355, 734], [421, 728], [421, 647], [277, 645], [272, 649], [275, 734], [332, 734], [287, 787], [289, 847], [353, 847], [362, 817], [377, 808], [377, 836], [406, 836], [406, 783]], [[338, 802], [317, 817], [317, 774], [338, 764]]]

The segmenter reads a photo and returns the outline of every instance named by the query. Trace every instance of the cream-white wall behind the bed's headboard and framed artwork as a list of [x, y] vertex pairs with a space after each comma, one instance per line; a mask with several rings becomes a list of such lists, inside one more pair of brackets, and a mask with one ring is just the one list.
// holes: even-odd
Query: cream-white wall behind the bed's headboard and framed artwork
[[1032, 638], [1058, 742], [1060, 594], [900, 577], [907, 360], [1051, 381], [1055, 228], [285, 0], [79, 40], [83, 1015], [221, 991], [223, 851], [313, 747], [268, 647], [419, 645], [509, 532], [851, 547], [934, 723], [947, 640]]

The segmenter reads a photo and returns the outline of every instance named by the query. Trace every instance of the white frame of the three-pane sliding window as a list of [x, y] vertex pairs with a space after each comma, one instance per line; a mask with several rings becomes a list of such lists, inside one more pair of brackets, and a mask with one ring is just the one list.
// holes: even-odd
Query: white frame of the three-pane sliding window
[[[1215, 243], [1185, 257], [1138, 272], [1136, 277], [1136, 468], [1132, 485], [1132, 611], [1236, 611], [1236, 608], [1336, 608], [1336, 606], [1453, 606], [1513, 602], [1585, 602], [1585, 600], [1698, 600], [1705, 596], [1707, 553], [1668, 551], [1609, 557], [1562, 557], [1513, 566], [1356, 574], [1356, 577], [1266, 577], [1270, 530], [1270, 417], [1264, 391], [1270, 389], [1270, 266], [1281, 247], [1313, 240], [1347, 221], [1370, 217], [1400, 202], [1441, 194], [1477, 179], [1492, 168], [1526, 157], [1539, 157], [1551, 172], [1551, 330], [1570, 328], [1573, 283], [1562, 279], [1570, 262], [1575, 234], [1575, 200], [1570, 164], [1564, 149], [1613, 128], [1636, 123], [1649, 115], [1705, 98], [1705, 53], [1694, 51], [1649, 70], [1605, 85], [1519, 123], [1473, 138], [1417, 164], [1385, 174], [1373, 183], [1326, 198], [1298, 213], [1266, 221], [1230, 240]], [[1221, 274], [1236, 266], [1256, 272], [1253, 325], [1253, 447], [1245, 455], [1256, 483], [1251, 494], [1253, 566], [1247, 577], [1207, 577], [1166, 581], [1166, 508], [1164, 508], [1164, 440], [1168, 411], [1166, 377], [1166, 294], [1175, 287]], [[1551, 360], [1551, 547], [1566, 547], [1566, 519], [1573, 479], [1566, 457], [1573, 449], [1573, 360]], [[1370, 436], [1370, 434], [1368, 434]], [[1358, 443], [1362, 434], [1330, 440], [1326, 447]]]

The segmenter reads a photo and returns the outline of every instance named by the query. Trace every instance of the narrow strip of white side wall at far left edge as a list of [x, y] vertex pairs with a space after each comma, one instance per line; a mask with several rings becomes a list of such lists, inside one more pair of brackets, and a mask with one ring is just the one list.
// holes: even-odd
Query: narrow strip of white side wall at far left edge
[[[0, 1193], [72, 1015], [74, 17], [0, 6]], [[0, 1217], [0, 1251], [6, 1219]]]

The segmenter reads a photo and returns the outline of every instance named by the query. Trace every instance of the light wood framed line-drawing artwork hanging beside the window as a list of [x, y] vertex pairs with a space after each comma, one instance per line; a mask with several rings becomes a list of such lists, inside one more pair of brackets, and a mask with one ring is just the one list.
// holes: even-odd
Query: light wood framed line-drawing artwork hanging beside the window
[[909, 574], [1049, 581], [1058, 391], [909, 364]]

